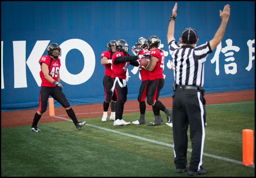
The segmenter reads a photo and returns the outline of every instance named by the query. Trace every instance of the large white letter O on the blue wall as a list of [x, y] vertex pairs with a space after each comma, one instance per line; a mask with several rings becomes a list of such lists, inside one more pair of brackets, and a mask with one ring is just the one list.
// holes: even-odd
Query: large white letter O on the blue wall
[[[95, 54], [91, 46], [83, 40], [70, 39], [60, 44], [60, 48], [60, 79], [70, 85], [79, 85], [89, 80], [95, 69]], [[84, 56], [84, 68], [76, 75], [69, 73], [66, 67], [66, 55], [71, 49], [78, 49]]]

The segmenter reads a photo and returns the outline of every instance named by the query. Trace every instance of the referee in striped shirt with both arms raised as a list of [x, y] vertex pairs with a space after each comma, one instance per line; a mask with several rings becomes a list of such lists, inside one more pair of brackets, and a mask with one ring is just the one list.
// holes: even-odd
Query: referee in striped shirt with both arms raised
[[[230, 15], [230, 5], [225, 5], [223, 12], [219, 11], [222, 21], [214, 38], [196, 48], [199, 39], [193, 28], [183, 30], [181, 38], [179, 38], [182, 43], [181, 48], [174, 38], [177, 6], [175, 3], [167, 32], [170, 55], [174, 64], [174, 93], [172, 95], [174, 163], [176, 173], [188, 171], [188, 175], [206, 174], [207, 170], [201, 166], [203, 164], [206, 116], [203, 97], [204, 62], [224, 36]], [[192, 143], [189, 167], [187, 166], [188, 125]]]

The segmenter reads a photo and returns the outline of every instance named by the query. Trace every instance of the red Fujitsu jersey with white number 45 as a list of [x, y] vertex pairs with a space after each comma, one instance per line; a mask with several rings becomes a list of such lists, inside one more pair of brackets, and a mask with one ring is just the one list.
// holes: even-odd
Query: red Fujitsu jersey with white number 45
[[[53, 58], [51, 58], [48, 55], [42, 56], [39, 60], [39, 63], [45, 63], [47, 64], [48, 68], [49, 68], [49, 75], [53, 78], [53, 80], [58, 82], [58, 73], [60, 70], [60, 58], [57, 58], [56, 60], [54, 60]], [[51, 63], [51, 64], [50, 64]], [[42, 66], [41, 66], [41, 71], [40, 71], [40, 77], [42, 80], [41, 86], [44, 87], [56, 87], [55, 84], [49, 82], [48, 80], [46, 80], [44, 78], [44, 74], [42, 72]]]

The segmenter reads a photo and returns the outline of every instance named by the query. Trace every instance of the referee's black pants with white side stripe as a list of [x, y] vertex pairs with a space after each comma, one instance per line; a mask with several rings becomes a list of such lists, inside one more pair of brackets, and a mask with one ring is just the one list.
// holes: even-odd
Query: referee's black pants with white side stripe
[[203, 164], [203, 148], [205, 142], [205, 99], [203, 92], [196, 89], [184, 89], [185, 85], [177, 85], [172, 100], [172, 124], [174, 140], [174, 163], [176, 169], [184, 169], [187, 165], [188, 124], [192, 153], [189, 170], [199, 171]]

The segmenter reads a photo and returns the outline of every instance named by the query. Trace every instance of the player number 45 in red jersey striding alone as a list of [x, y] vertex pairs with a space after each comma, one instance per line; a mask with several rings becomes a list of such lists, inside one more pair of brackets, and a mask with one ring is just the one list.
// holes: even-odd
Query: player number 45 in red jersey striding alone
[[86, 124], [86, 121], [77, 121], [75, 112], [70, 107], [65, 94], [62, 92], [64, 85], [60, 83], [59, 73], [59, 56], [61, 56], [61, 48], [57, 43], [51, 43], [49, 46], [47, 46], [46, 50], [48, 55], [42, 56], [39, 60], [41, 65], [41, 71], [39, 74], [42, 79], [39, 98], [39, 110], [35, 113], [31, 131], [41, 132], [41, 130], [39, 130], [37, 127], [37, 123], [40, 120], [42, 114], [46, 111], [47, 100], [50, 95], [66, 109], [68, 116], [73, 120], [73, 123], [77, 129], [81, 129], [81, 127]]

